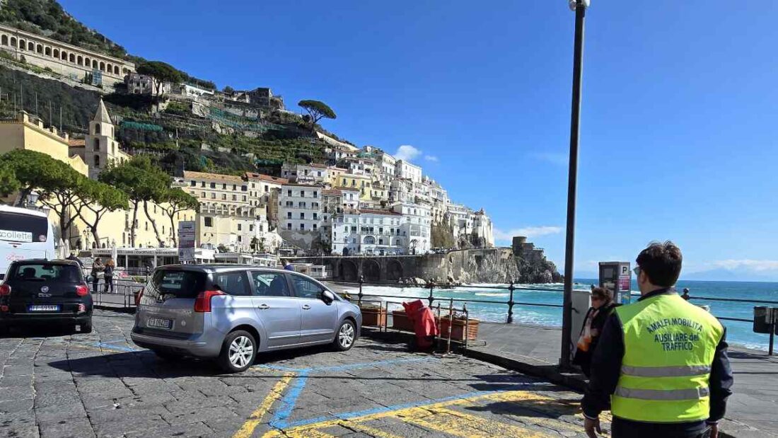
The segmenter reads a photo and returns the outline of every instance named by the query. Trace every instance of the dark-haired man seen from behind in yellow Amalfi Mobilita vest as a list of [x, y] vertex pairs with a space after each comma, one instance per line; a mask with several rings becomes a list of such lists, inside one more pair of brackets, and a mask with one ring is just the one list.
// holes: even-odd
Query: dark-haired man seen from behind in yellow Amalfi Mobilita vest
[[653, 242], [636, 262], [640, 299], [608, 317], [592, 358], [587, 435], [597, 436], [610, 408], [613, 438], [716, 438], [733, 381], [725, 329], [675, 292], [675, 244]]

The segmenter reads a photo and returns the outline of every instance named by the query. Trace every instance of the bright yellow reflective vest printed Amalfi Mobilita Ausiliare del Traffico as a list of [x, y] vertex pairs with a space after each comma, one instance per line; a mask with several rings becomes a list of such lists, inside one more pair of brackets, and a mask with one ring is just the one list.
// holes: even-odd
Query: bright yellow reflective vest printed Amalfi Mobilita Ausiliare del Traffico
[[615, 309], [624, 358], [611, 412], [640, 422], [692, 422], [710, 415], [710, 366], [720, 322], [676, 293]]

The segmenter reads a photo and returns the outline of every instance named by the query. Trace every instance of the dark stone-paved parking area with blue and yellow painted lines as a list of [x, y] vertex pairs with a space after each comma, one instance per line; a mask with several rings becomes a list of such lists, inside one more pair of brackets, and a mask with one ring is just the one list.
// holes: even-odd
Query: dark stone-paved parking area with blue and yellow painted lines
[[475, 359], [361, 338], [229, 375], [157, 359], [132, 322], [0, 338], [0, 436], [584, 436], [580, 394]]

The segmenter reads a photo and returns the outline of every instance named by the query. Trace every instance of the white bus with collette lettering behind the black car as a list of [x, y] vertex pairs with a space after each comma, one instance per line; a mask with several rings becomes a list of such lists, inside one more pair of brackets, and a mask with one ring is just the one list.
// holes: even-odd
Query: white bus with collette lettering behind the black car
[[0, 205], [0, 281], [12, 261], [56, 258], [54, 231], [44, 212]]

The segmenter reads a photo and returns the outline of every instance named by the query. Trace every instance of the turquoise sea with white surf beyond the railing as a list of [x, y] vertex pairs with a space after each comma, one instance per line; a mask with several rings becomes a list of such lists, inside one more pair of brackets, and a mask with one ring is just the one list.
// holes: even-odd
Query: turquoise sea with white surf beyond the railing
[[[588, 290], [595, 279], [576, 279], [574, 289]], [[562, 304], [562, 284], [552, 283], [544, 285], [519, 285], [513, 293], [513, 301], [532, 304]], [[503, 288], [503, 289], [492, 289]], [[454, 298], [464, 300], [503, 301], [508, 300], [510, 293], [506, 285], [474, 284], [460, 286], [454, 289], [436, 289], [434, 295], [441, 298]], [[750, 303], [732, 303], [709, 300], [692, 300], [698, 305], [710, 306], [710, 311], [717, 317], [734, 317], [752, 320], [755, 306], [778, 307], [778, 282], [703, 282], [703, 281], [679, 281], [676, 289], [682, 291], [689, 288], [692, 297], [707, 298], [734, 298], [740, 300], [754, 300]], [[348, 293], [356, 293], [356, 286], [342, 286]], [[640, 293], [633, 280], [633, 301]], [[421, 289], [408, 286], [363, 286], [363, 293], [383, 296], [383, 301], [390, 302], [391, 308], [401, 308], [402, 301], [408, 301], [405, 297], [426, 297], [429, 289]], [[386, 296], [400, 296], [401, 298], [389, 298]], [[759, 303], [759, 300], [773, 301], [776, 303]], [[426, 301], [425, 301], [426, 303]], [[437, 303], [437, 302], [436, 302]], [[458, 303], [461, 307], [461, 303]], [[441, 304], [442, 308], [447, 303]], [[505, 322], [507, 305], [501, 303], [467, 303], [468, 313], [471, 317], [482, 321]], [[559, 307], [539, 307], [531, 305], [515, 305], [513, 307], [513, 322], [515, 324], [534, 324], [547, 327], [562, 327], [562, 309]], [[740, 345], [750, 349], [766, 350], [768, 348], [769, 335], [753, 332], [752, 322], [721, 321], [727, 327], [727, 340], [732, 345]], [[776, 341], [778, 343], [778, 341]]]

